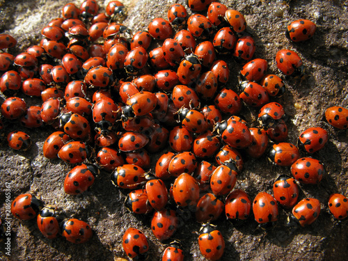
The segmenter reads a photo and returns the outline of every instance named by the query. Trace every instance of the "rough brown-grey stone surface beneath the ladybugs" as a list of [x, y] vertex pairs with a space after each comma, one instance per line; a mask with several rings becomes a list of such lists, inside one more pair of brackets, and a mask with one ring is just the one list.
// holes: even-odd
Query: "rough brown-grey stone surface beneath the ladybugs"
[[[40, 41], [40, 30], [51, 19], [58, 17], [68, 0], [0, 1], [0, 33], [10, 33], [17, 41], [14, 54]], [[79, 6], [82, 1], [73, 1]], [[107, 3], [107, 1], [105, 1]], [[178, 1], [184, 3], [184, 1]], [[304, 129], [322, 126], [324, 110], [333, 105], [348, 105], [348, 17], [347, 1], [294, 0], [283, 1], [221, 1], [245, 15], [248, 31], [256, 44], [255, 58], [265, 58], [269, 72], [278, 74], [274, 57], [279, 49], [293, 49], [299, 53], [310, 75], [303, 81], [286, 81], [288, 92], [278, 101], [290, 115], [289, 142]], [[100, 6], [106, 6], [102, 1]], [[146, 29], [155, 17], [166, 18], [174, 1], [128, 1], [129, 16], [124, 24], [137, 31]], [[312, 40], [292, 43], [284, 31], [291, 21], [304, 18], [317, 24]], [[226, 57], [224, 57], [226, 58]], [[241, 65], [228, 57], [231, 70], [228, 87], [237, 86], [237, 72]], [[40, 100], [25, 97], [30, 105]], [[245, 109], [242, 114], [252, 122], [257, 110]], [[150, 242], [150, 260], [159, 260], [165, 246], [150, 230], [150, 216], [134, 216], [123, 206], [125, 191], [113, 187], [109, 173], [102, 172], [95, 185], [80, 196], [68, 196], [63, 181], [71, 166], [60, 160], [49, 161], [42, 156], [42, 144], [54, 130], [50, 127], [24, 129], [17, 123], [6, 123], [6, 132], [13, 129], [30, 134], [33, 146], [27, 152], [14, 152], [6, 144], [0, 147], [0, 218], [4, 218], [5, 182], [11, 183], [11, 198], [20, 193], [35, 194], [45, 205], [54, 205], [65, 217], [90, 223], [93, 238], [83, 245], [73, 245], [65, 239], [45, 239], [35, 221], [13, 220], [10, 260], [113, 260], [126, 258], [122, 251], [122, 234], [129, 226], [143, 230]], [[216, 221], [226, 240], [222, 260], [346, 260], [347, 222], [337, 223], [328, 212], [327, 200], [331, 193], [348, 195], [347, 132], [329, 128], [329, 142], [313, 157], [324, 162], [327, 175], [319, 186], [301, 185], [301, 198], [314, 197], [322, 203], [322, 212], [312, 226], [290, 233], [283, 224], [288, 212], [280, 209], [280, 220], [274, 230], [257, 230], [253, 217], [238, 228], [223, 218]], [[304, 156], [304, 154], [303, 154]], [[159, 156], [153, 155], [152, 164]], [[153, 170], [154, 168], [152, 168]], [[272, 193], [272, 186], [280, 174], [290, 174], [288, 168], [271, 166], [267, 160], [247, 159], [236, 188], [248, 192], [251, 198], [259, 191]], [[199, 253], [197, 235], [200, 224], [189, 219], [182, 223], [175, 238], [181, 239], [186, 260], [204, 260]], [[3, 251], [3, 246], [0, 246]], [[1, 259], [0, 254], [0, 259]]]

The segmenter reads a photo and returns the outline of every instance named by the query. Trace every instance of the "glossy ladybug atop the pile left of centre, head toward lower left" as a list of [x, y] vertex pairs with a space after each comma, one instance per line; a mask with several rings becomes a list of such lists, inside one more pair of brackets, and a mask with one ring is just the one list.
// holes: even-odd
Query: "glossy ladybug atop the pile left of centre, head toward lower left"
[[135, 93], [128, 98], [126, 104], [132, 106], [133, 112], [136, 116], [144, 116], [155, 109], [157, 105], [157, 96], [148, 91]]

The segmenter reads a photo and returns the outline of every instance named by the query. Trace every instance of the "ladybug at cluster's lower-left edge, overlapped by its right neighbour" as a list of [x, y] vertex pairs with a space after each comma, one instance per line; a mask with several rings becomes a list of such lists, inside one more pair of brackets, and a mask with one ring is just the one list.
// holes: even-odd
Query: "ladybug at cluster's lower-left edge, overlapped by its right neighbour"
[[43, 155], [47, 159], [58, 158], [58, 152], [63, 145], [70, 140], [70, 137], [64, 132], [54, 132], [48, 136], [43, 145]]

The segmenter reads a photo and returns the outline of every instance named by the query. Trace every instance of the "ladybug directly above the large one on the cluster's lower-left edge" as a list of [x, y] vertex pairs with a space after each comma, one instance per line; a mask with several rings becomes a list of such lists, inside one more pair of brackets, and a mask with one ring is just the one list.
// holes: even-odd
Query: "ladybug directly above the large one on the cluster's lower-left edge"
[[82, 141], [70, 141], [63, 145], [58, 152], [59, 159], [70, 164], [80, 163], [89, 158], [90, 155], [90, 148]]

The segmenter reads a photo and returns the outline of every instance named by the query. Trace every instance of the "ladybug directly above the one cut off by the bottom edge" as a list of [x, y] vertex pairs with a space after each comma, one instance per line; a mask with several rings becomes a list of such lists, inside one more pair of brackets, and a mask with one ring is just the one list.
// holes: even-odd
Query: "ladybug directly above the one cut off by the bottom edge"
[[155, 212], [151, 220], [152, 233], [160, 242], [171, 238], [176, 232], [178, 225], [179, 219], [176, 216], [176, 212], [172, 209], [162, 209]]

